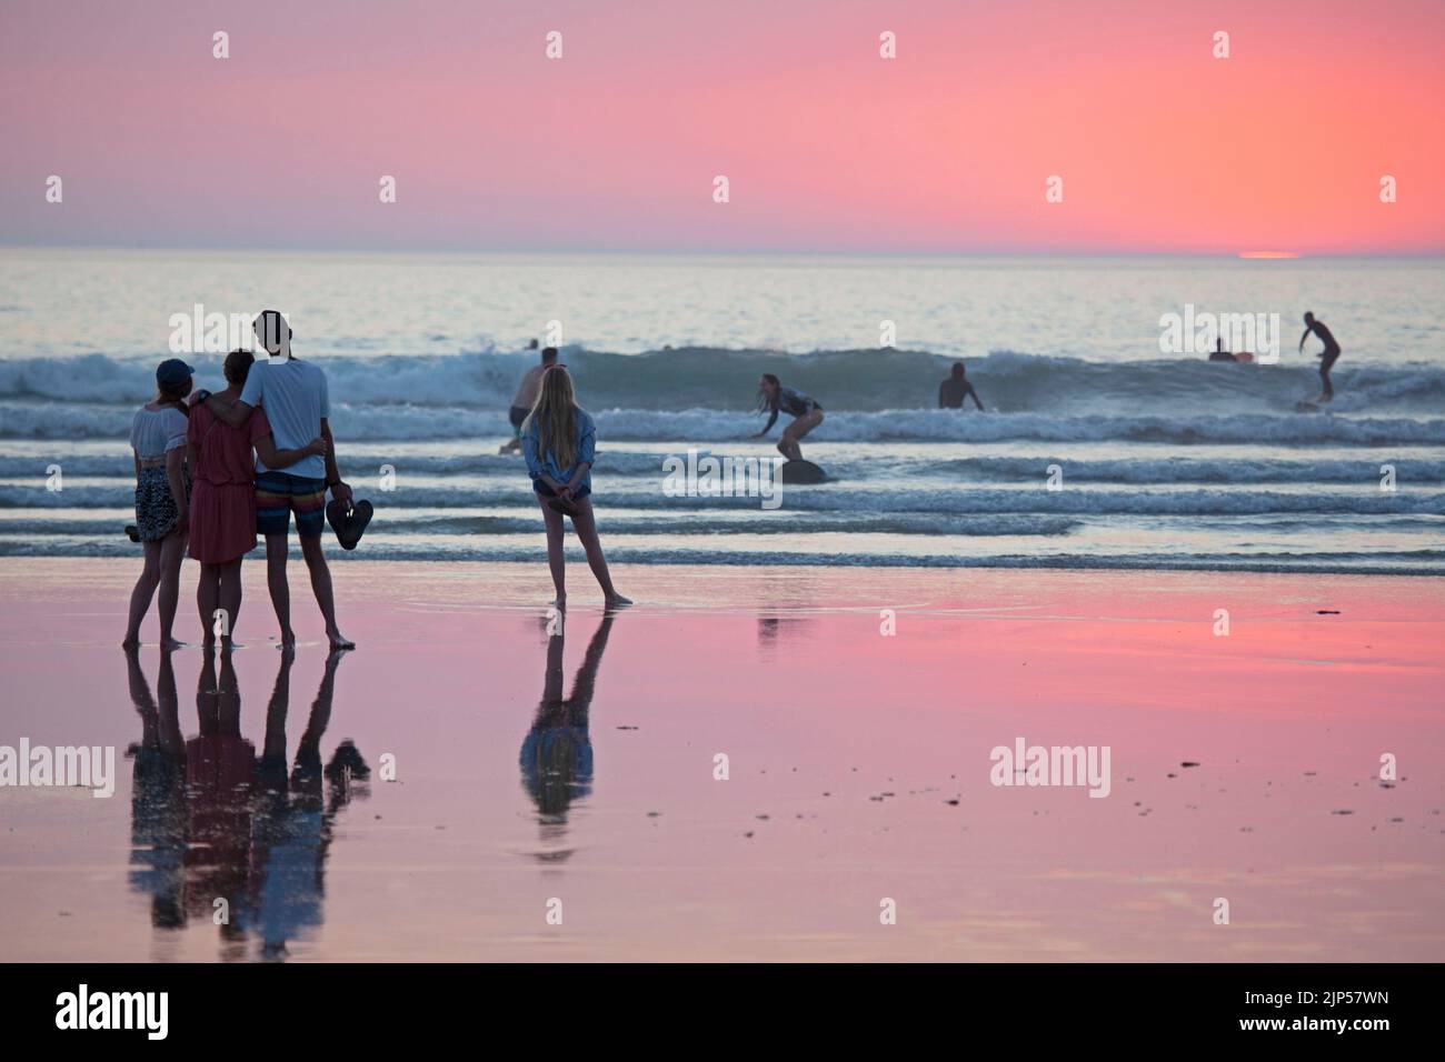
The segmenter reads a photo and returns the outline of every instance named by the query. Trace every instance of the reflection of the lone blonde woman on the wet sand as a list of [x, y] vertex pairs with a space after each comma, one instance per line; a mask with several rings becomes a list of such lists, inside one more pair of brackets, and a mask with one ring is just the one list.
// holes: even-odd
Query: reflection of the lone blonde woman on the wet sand
[[542, 678], [542, 699], [538, 702], [532, 730], [522, 740], [522, 783], [538, 809], [545, 850], [539, 860], [558, 861], [572, 854], [561, 848], [566, 835], [566, 816], [572, 800], [592, 792], [592, 738], [588, 714], [597, 689], [597, 668], [607, 649], [613, 629], [613, 614], [604, 614], [592, 640], [587, 646], [582, 666], [572, 679], [572, 695], [562, 696], [562, 650], [566, 644], [565, 627], [556, 626], [548, 639], [546, 672]]

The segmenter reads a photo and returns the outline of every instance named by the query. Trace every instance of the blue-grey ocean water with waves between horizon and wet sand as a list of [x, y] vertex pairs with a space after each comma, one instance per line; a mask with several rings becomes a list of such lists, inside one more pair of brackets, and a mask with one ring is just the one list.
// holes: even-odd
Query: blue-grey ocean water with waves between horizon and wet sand
[[[538, 559], [497, 446], [551, 327], [597, 418], [614, 561], [1445, 571], [1439, 260], [6, 250], [0, 555], [137, 555], [130, 416], [197, 303], [276, 306], [327, 368], [342, 472], [377, 507], [361, 556]], [[1277, 314], [1279, 363], [1162, 354], [1186, 305]], [[1305, 309], [1344, 347], [1321, 413], [1296, 410], [1319, 392]], [[220, 353], [185, 357], [220, 386]], [[957, 357], [987, 412], [933, 407]], [[822, 403], [803, 451], [829, 483], [776, 509], [669, 494], [689, 449], [775, 455], [786, 419], [749, 438], [762, 371]]]

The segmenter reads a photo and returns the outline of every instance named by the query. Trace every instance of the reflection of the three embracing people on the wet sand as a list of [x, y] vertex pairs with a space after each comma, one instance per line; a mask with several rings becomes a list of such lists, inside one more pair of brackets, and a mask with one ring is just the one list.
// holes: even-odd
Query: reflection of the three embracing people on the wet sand
[[[221, 958], [285, 959], [288, 941], [322, 922], [325, 863], [337, 815], [366, 796], [370, 769], [342, 741], [322, 767], [337, 668], [327, 659], [306, 730], [286, 770], [286, 715], [293, 653], [280, 668], [266, 709], [262, 754], [241, 735], [241, 696], [231, 653], [204, 655], [197, 681], [198, 734], [184, 740], [173, 653], [160, 653], [159, 699], [140, 655], [126, 655], [130, 698], [142, 735], [134, 759], [130, 887], [150, 896], [150, 922], [175, 931], [192, 919], [220, 929]], [[253, 948], [254, 942], [254, 948]]]

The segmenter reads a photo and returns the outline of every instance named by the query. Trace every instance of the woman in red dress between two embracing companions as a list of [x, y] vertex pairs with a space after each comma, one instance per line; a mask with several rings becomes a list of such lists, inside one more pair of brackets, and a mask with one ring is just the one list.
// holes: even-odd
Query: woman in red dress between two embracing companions
[[[256, 357], [249, 350], [233, 350], [225, 357], [221, 402], [234, 403], [251, 371]], [[264, 366], [257, 371], [266, 371]], [[285, 468], [311, 454], [325, 454], [327, 444], [316, 438], [301, 449], [276, 449], [266, 412], [257, 409], [243, 428], [215, 419], [204, 402], [191, 409], [186, 428], [186, 455], [191, 461], [191, 556], [201, 562], [201, 585], [195, 603], [201, 610], [205, 644], [231, 644], [236, 617], [241, 611], [241, 558], [256, 549], [256, 461], [251, 449], [267, 468]]]

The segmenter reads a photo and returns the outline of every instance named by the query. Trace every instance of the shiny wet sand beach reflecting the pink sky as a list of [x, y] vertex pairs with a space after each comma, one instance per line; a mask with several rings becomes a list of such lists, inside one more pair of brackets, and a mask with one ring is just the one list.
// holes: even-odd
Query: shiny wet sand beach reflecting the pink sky
[[1438, 578], [620, 565], [556, 633], [540, 562], [348, 562], [328, 668], [296, 565], [283, 668], [247, 562], [234, 673], [137, 676], [136, 571], [0, 561], [0, 746], [118, 774], [0, 787], [4, 959], [1445, 959]]

